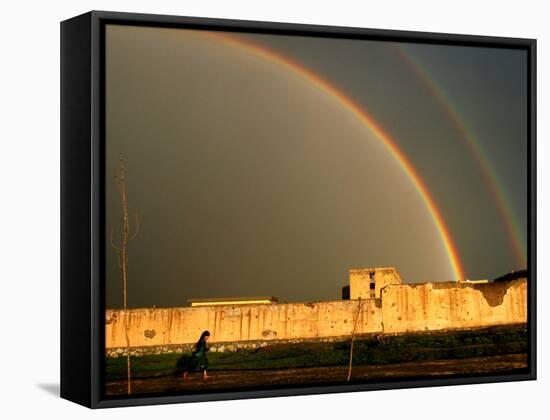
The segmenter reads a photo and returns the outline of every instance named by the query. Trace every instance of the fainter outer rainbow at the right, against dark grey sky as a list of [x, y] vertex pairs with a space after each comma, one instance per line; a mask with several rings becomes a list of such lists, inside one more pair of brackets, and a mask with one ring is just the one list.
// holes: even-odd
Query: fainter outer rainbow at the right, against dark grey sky
[[512, 248], [512, 253], [515, 256], [518, 264], [521, 268], [527, 264], [526, 260], [526, 246], [521, 234], [521, 229], [517, 219], [512, 212], [512, 206], [504, 191], [505, 187], [499, 181], [497, 171], [494, 165], [491, 163], [486, 153], [483, 151], [479, 139], [475, 136], [473, 130], [469, 129], [464, 119], [460, 116], [460, 113], [453, 105], [451, 99], [445, 94], [443, 88], [436, 83], [436, 79], [429, 72], [429, 70], [420, 62], [406, 47], [394, 44], [394, 49], [397, 52], [401, 60], [412, 69], [426, 89], [430, 92], [431, 96], [436, 100], [437, 104], [445, 111], [449, 121], [453, 127], [457, 130], [460, 136], [465, 140], [471, 154], [474, 156], [481, 168], [481, 174], [487, 187], [489, 188], [492, 196], [495, 198], [499, 217], [504, 222], [506, 227], [506, 235]]

